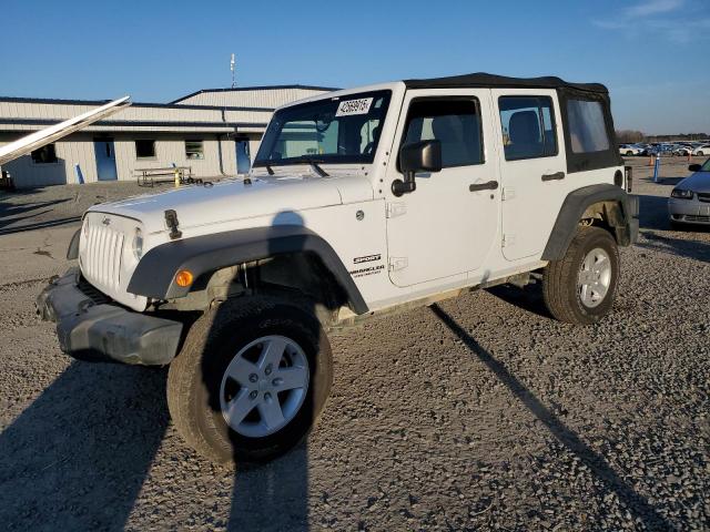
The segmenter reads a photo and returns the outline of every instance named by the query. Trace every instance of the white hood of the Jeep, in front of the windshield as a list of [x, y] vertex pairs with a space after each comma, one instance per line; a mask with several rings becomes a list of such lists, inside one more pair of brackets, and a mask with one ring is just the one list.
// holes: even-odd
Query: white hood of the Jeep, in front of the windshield
[[243, 180], [225, 180], [213, 186], [190, 185], [102, 203], [94, 205], [89, 212], [128, 216], [140, 221], [149, 233], [154, 233], [166, 229], [166, 209], [176, 212], [182, 229], [372, 198], [372, 185], [362, 175], [280, 175], [252, 177], [251, 184], [245, 184]]

